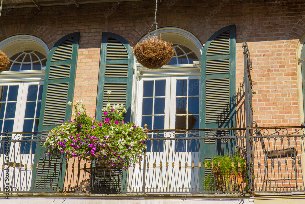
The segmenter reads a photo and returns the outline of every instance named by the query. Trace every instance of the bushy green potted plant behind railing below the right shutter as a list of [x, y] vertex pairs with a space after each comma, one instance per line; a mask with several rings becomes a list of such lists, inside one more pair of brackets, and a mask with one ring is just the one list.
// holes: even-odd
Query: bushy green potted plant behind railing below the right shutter
[[246, 161], [239, 152], [218, 155], [203, 161], [203, 164], [206, 169], [211, 170], [203, 179], [203, 186], [207, 191], [236, 190], [246, 182]]

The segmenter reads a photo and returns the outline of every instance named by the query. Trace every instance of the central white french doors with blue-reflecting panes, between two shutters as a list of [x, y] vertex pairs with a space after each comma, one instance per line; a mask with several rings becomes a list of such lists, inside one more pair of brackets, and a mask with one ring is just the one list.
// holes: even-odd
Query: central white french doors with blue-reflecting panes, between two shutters
[[[141, 105], [137, 110], [142, 127], [147, 124], [147, 128], [153, 130], [199, 128], [199, 89], [198, 76], [142, 78], [138, 91]], [[162, 139], [187, 138], [190, 132], [148, 134], [161, 139], [147, 142], [145, 191], [195, 190], [198, 168], [193, 168], [192, 163], [198, 164], [199, 143], [188, 139]], [[143, 165], [138, 168], [140, 172]], [[134, 172], [137, 171], [134, 169]], [[131, 174], [136, 177], [134, 172]], [[130, 187], [142, 188], [137, 184]]]

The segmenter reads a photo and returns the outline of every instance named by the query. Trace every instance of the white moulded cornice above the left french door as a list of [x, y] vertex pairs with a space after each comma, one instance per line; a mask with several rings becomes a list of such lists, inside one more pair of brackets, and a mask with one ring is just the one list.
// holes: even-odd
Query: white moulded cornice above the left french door
[[0, 82], [43, 81], [45, 67], [41, 70], [4, 71], [0, 74]]

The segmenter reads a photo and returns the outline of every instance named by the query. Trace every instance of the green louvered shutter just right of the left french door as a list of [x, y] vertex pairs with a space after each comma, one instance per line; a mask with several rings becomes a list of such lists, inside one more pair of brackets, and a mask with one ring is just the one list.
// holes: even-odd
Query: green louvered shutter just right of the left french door
[[[75, 32], [59, 39], [48, 55], [38, 131], [49, 131], [63, 120], [71, 120], [72, 106], [67, 103], [73, 101], [79, 36], [80, 32]], [[34, 158], [32, 189], [55, 191], [64, 179], [64, 165], [59, 168], [62, 158], [46, 157], [40, 145]]]

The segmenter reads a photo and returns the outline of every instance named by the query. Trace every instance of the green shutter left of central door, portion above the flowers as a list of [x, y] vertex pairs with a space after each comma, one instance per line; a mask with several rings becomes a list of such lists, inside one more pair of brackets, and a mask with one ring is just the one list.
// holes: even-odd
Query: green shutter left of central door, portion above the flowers
[[103, 32], [96, 101], [97, 120], [102, 119], [102, 108], [108, 103], [126, 107], [125, 121], [130, 121], [133, 54], [129, 43], [120, 35]]

